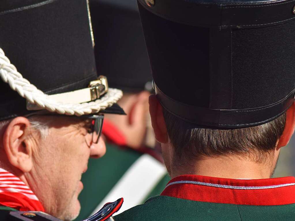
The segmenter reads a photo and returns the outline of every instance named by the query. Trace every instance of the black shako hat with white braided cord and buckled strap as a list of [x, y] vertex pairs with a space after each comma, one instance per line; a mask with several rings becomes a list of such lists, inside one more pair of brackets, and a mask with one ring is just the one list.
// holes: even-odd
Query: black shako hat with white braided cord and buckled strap
[[124, 113], [122, 91], [97, 77], [88, 1], [1, 0], [0, 30], [0, 120]]

